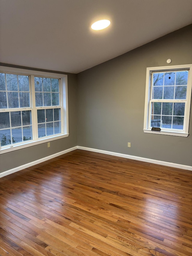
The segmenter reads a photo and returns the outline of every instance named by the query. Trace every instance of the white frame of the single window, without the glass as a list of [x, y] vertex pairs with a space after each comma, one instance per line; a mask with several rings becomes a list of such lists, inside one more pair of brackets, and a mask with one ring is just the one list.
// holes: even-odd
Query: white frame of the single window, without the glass
[[[151, 88], [152, 88], [152, 72], [168, 72], [168, 71], [182, 71], [189, 70], [188, 81], [187, 81], [187, 95], [186, 100], [179, 100], [180, 102], [185, 102], [185, 112], [184, 112], [184, 128], [183, 130], [176, 129], [166, 129], [161, 128], [161, 131], [152, 131], [150, 124], [150, 108], [151, 108]], [[174, 135], [187, 137], [189, 135], [189, 119], [190, 119], [190, 105], [191, 105], [191, 90], [192, 90], [192, 64], [189, 65], [175, 65], [175, 66], [164, 66], [164, 67], [151, 67], [147, 68], [146, 73], [146, 95], [145, 95], [145, 113], [144, 113], [144, 128], [145, 133], [155, 133], [164, 135]], [[158, 101], [158, 100], [157, 100]], [[169, 100], [170, 102], [171, 100]], [[162, 102], [162, 100], [160, 100]], [[166, 100], [164, 101], [166, 102]], [[174, 100], [172, 100], [174, 102]]]

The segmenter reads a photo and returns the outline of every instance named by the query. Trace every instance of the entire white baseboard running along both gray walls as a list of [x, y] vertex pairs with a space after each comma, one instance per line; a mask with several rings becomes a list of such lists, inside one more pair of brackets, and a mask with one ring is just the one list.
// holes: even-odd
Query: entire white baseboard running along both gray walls
[[4, 171], [4, 172], [0, 173], [0, 178], [4, 177], [4, 176], [7, 176], [11, 173], [18, 172], [18, 171], [23, 170], [25, 168], [31, 167], [35, 164], [42, 163], [44, 161], [47, 161], [47, 160], [52, 159], [54, 157], [57, 157], [59, 155], [64, 155], [64, 154], [66, 154], [70, 151], [73, 151], [75, 149], [82, 149], [82, 150], [97, 152], [97, 153], [106, 154], [106, 155], [114, 155], [114, 156], [119, 156], [119, 157], [123, 157], [123, 158], [129, 158], [129, 159], [133, 159], [133, 160], [148, 162], [148, 163], [152, 163], [152, 164], [161, 164], [161, 165], [165, 165], [165, 166], [176, 167], [176, 168], [192, 171], [192, 166], [189, 166], [189, 165], [175, 164], [175, 163], [164, 162], [164, 161], [159, 161], [159, 160], [154, 160], [154, 159], [149, 159], [149, 158], [144, 158], [144, 157], [139, 157], [139, 156], [134, 156], [134, 155], [125, 155], [125, 154], [121, 154], [121, 153], [105, 151], [105, 150], [101, 150], [101, 149], [92, 149], [92, 148], [87, 148], [87, 147], [82, 147], [82, 146], [75, 146], [73, 148], [66, 149], [66, 150], [63, 150], [61, 152], [55, 153], [53, 155], [49, 155], [49, 156], [46, 156], [44, 158], [38, 159], [36, 161], [30, 162], [30, 163], [27, 163], [27, 164], [23, 164], [23, 165], [18, 166], [16, 168]]

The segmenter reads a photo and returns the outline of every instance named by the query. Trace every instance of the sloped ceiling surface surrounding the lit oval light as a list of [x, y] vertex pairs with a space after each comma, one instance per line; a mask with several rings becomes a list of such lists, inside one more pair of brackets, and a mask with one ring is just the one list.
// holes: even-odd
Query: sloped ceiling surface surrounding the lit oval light
[[0, 62], [79, 73], [191, 23], [192, 0], [0, 0]]

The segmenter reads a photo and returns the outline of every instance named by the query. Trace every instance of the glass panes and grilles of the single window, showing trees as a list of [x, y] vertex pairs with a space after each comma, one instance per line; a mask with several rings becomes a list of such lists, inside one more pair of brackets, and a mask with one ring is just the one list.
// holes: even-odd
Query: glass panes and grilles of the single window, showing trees
[[152, 73], [151, 127], [183, 130], [188, 70]]

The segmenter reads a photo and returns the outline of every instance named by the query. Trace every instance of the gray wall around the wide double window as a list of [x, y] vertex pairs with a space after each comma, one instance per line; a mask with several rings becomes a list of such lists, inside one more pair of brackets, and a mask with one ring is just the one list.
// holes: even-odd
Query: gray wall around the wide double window
[[[2, 65], [2, 63], [0, 63]], [[13, 66], [16, 67], [16, 66]], [[17, 66], [18, 67], [18, 66]], [[25, 68], [25, 67], [22, 67]], [[40, 70], [41, 71], [41, 70]], [[52, 71], [49, 71], [52, 72]], [[57, 72], [61, 73], [61, 72]], [[66, 73], [67, 74], [67, 73]], [[0, 173], [23, 164], [44, 158], [57, 152], [77, 145], [77, 75], [67, 74], [68, 80], [68, 110], [69, 110], [69, 136], [51, 141], [50, 148], [42, 143], [28, 148], [15, 150], [0, 155]]]

